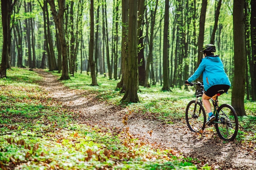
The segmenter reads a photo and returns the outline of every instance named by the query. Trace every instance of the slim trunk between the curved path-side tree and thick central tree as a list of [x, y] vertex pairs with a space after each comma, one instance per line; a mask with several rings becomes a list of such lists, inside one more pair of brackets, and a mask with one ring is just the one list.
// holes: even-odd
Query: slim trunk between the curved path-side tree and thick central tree
[[98, 85], [96, 71], [95, 71], [95, 63], [93, 59], [93, 51], [94, 51], [94, 0], [90, 0], [90, 42], [89, 42], [89, 63], [91, 68], [91, 77], [92, 77], [92, 86]]

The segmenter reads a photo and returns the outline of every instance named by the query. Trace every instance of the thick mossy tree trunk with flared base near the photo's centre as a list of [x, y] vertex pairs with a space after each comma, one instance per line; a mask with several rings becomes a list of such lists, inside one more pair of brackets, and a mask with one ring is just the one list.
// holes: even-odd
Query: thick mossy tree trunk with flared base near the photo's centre
[[137, 0], [129, 0], [128, 64], [123, 102], [139, 102], [138, 89], [138, 39], [137, 39]]

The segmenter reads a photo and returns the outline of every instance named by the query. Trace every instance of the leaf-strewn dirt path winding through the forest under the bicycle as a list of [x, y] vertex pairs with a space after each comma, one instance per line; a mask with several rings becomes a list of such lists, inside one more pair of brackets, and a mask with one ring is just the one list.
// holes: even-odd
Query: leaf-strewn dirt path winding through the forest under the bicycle
[[[39, 69], [35, 71], [44, 77], [41, 87], [48, 91], [50, 97], [74, 111], [76, 120], [80, 123], [97, 124], [112, 130], [123, 127], [122, 120], [128, 113], [127, 110], [100, 102], [95, 94], [87, 91], [69, 89], [50, 73]], [[184, 119], [166, 124], [139, 113], [131, 113], [126, 127], [129, 127], [129, 133], [134, 137], [155, 147], [168, 148], [185, 157], [196, 158], [212, 169], [256, 170], [256, 151], [249, 149], [255, 146], [223, 142], [215, 130], [202, 135], [192, 133]]]

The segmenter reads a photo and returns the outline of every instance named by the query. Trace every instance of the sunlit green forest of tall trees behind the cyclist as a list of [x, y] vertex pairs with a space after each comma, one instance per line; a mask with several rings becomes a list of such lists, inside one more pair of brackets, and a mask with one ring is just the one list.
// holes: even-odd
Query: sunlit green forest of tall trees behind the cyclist
[[[48, 68], [61, 80], [75, 72], [119, 81], [124, 102], [139, 85], [182, 87], [215, 44], [231, 80], [232, 105], [246, 115], [256, 96], [253, 0], [2, 0], [0, 74]], [[199, 78], [200, 80], [200, 78]]]

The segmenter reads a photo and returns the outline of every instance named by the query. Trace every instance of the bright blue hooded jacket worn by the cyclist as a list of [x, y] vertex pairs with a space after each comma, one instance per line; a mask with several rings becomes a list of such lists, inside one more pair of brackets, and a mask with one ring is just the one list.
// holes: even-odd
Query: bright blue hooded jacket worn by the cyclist
[[231, 86], [229, 78], [225, 73], [223, 63], [218, 55], [203, 58], [198, 69], [195, 70], [195, 73], [191, 77], [189, 77], [188, 81], [190, 83], [195, 81], [201, 74], [203, 74], [205, 91], [213, 85]]

